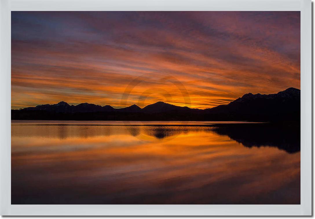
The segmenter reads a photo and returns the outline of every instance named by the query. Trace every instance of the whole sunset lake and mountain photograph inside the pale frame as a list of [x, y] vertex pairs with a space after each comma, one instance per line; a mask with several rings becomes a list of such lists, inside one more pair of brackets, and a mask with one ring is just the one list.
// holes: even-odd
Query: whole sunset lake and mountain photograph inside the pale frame
[[300, 11], [12, 11], [11, 204], [301, 204]]

